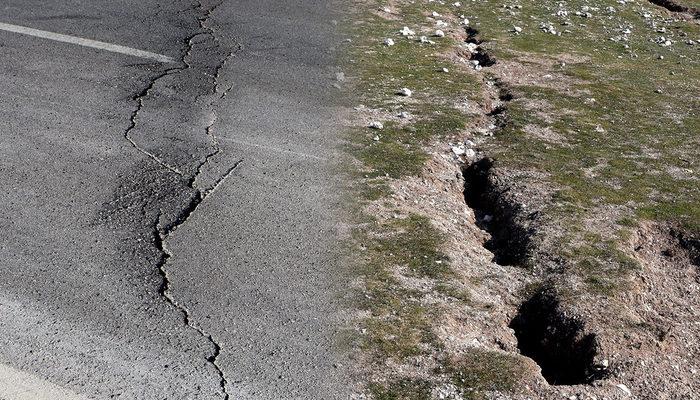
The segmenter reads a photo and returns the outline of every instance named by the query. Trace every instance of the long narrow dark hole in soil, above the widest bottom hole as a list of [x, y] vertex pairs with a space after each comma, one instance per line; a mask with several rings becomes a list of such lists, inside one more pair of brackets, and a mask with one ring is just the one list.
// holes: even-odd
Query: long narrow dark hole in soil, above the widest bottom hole
[[464, 200], [474, 210], [476, 224], [491, 234], [484, 243], [499, 265], [521, 265], [527, 255], [529, 234], [515, 223], [517, 207], [502, 199], [502, 193], [491, 182], [493, 160], [482, 158], [466, 167]]

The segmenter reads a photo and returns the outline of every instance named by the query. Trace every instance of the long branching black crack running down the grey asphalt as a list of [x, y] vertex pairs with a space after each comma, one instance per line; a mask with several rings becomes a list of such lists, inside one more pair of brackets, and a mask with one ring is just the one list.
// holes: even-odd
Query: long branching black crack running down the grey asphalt
[[[171, 288], [171, 280], [168, 275], [167, 271], [167, 264], [170, 258], [173, 257], [173, 253], [167, 248], [166, 242], [170, 235], [178, 229], [178, 227], [182, 226], [184, 223], [188, 221], [188, 219], [192, 216], [192, 214], [197, 210], [197, 208], [206, 200], [206, 198], [214, 193], [223, 183], [226, 179], [228, 179], [233, 172], [238, 168], [238, 166], [243, 162], [243, 160], [239, 160], [235, 162], [223, 175], [221, 175], [213, 185], [205, 188], [198, 188], [196, 185], [197, 178], [199, 177], [200, 173], [202, 172], [202, 169], [204, 168], [205, 165], [209, 162], [209, 160], [212, 157], [215, 157], [216, 155], [221, 153], [221, 147], [219, 145], [219, 140], [216, 137], [214, 133], [214, 125], [217, 122], [217, 113], [215, 110], [215, 103], [216, 100], [213, 100], [212, 102], [209, 103], [209, 107], [212, 108], [211, 111], [211, 122], [204, 128], [205, 134], [210, 138], [212, 148], [210, 152], [208, 152], [204, 158], [199, 162], [197, 165], [197, 168], [193, 174], [191, 174], [189, 177], [186, 176], [180, 169], [178, 169], [176, 166], [168, 164], [165, 160], [157, 156], [156, 154], [148, 151], [147, 149], [139, 146], [136, 141], [131, 137], [131, 132], [136, 128], [137, 126], [137, 120], [139, 117], [140, 112], [144, 108], [144, 99], [149, 96], [157, 82], [169, 75], [177, 74], [180, 73], [184, 70], [194, 68], [192, 64], [190, 63], [189, 60], [192, 59], [192, 52], [193, 48], [195, 46], [195, 40], [197, 37], [200, 36], [205, 36], [206, 39], [205, 41], [210, 40], [216, 48], [220, 47], [219, 40], [216, 37], [216, 34], [214, 32], [214, 29], [207, 26], [207, 21], [211, 17], [211, 14], [216, 10], [217, 7], [219, 7], [221, 4], [223, 4], [223, 0], [217, 2], [216, 4], [213, 4], [207, 8], [204, 7], [202, 2], [197, 2], [195, 5], [193, 5], [192, 8], [189, 10], [191, 11], [198, 11], [202, 13], [202, 16], [197, 17], [197, 22], [199, 24], [200, 32], [197, 32], [187, 38], [185, 38], [184, 42], [186, 44], [185, 51], [183, 53], [183, 56], [181, 58], [181, 63], [182, 66], [175, 67], [175, 68], [169, 68], [165, 70], [164, 72], [154, 76], [151, 78], [149, 84], [139, 93], [137, 93], [135, 96], [133, 96], [133, 100], [136, 101], [136, 107], [132, 111], [131, 117], [130, 117], [130, 124], [127, 127], [127, 129], [124, 131], [124, 137], [126, 140], [131, 143], [131, 145], [141, 152], [142, 154], [146, 155], [148, 158], [150, 158], [152, 161], [155, 163], [159, 164], [163, 168], [169, 170], [172, 173], [175, 173], [179, 175], [180, 177], [187, 178], [187, 186], [192, 189], [195, 194], [194, 196], [190, 199], [190, 202], [183, 207], [178, 216], [174, 219], [174, 221], [168, 223], [168, 224], [163, 224], [163, 210], [159, 210], [158, 216], [154, 222], [153, 226], [153, 243], [157, 250], [160, 252], [161, 256], [160, 259], [157, 261], [157, 268], [158, 268], [158, 273], [161, 277], [161, 285], [158, 289], [159, 295], [171, 306], [173, 306], [175, 309], [177, 309], [181, 314], [183, 318], [184, 324], [191, 328], [192, 330], [196, 331], [200, 336], [205, 338], [210, 345], [213, 348], [212, 353], [206, 358], [207, 362], [209, 362], [212, 367], [216, 370], [218, 376], [219, 376], [219, 386], [223, 392], [223, 396], [225, 400], [228, 400], [230, 398], [230, 395], [228, 393], [227, 385], [228, 381], [226, 379], [226, 376], [223, 372], [223, 370], [220, 368], [218, 364], [218, 357], [221, 354], [221, 345], [214, 339], [214, 337], [206, 332], [204, 329], [198, 327], [196, 324], [192, 322], [191, 314], [190, 311], [182, 304], [180, 304], [175, 297], [173, 296], [170, 288]], [[211, 89], [211, 95], [216, 96], [219, 93], [219, 78], [220, 78], [220, 72], [224, 68], [226, 62], [233, 56], [233, 54], [240, 50], [242, 47], [239, 45], [236, 50], [233, 52], [229, 52], [222, 60], [220, 63], [217, 64], [215, 68], [215, 73], [214, 75], [206, 73], [206, 71], [203, 71], [207, 76], [211, 77], [212, 80], [212, 89]], [[232, 86], [229, 86], [226, 88], [226, 90], [223, 91], [223, 94], [218, 96], [218, 99], [223, 99], [226, 97], [228, 92], [231, 90]], [[194, 99], [194, 104], [197, 104], [200, 95], [195, 96]], [[189, 174], [188, 174], [189, 175]]]

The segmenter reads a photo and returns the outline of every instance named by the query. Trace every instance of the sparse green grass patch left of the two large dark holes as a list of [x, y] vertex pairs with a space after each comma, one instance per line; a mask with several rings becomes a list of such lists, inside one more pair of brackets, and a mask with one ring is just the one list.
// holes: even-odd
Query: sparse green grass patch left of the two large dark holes
[[442, 279], [451, 273], [438, 248], [442, 235], [423, 216], [393, 219], [358, 232], [365, 245], [363, 308], [371, 312], [362, 326], [363, 348], [378, 360], [403, 360], [439, 347], [432, 321], [440, 310], [421, 304], [421, 293], [407, 289], [395, 275], [405, 268], [416, 278]]

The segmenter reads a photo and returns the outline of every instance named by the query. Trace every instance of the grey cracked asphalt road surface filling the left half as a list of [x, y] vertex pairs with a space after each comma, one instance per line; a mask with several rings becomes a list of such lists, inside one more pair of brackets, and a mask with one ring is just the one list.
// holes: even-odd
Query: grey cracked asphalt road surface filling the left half
[[348, 398], [333, 18], [2, 2], [0, 398]]

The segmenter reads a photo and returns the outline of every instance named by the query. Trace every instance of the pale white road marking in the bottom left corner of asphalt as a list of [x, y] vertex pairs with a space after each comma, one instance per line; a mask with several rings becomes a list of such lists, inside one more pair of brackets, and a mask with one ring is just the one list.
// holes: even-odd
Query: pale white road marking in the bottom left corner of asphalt
[[0, 364], [0, 399], [3, 400], [89, 400], [34, 375]]

